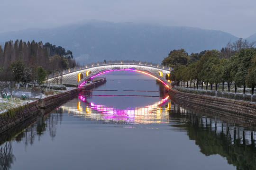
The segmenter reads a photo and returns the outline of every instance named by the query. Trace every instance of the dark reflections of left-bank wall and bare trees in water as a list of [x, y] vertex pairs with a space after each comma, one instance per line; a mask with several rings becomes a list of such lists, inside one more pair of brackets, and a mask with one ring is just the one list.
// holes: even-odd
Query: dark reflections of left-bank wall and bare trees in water
[[[11, 142], [6, 141], [14, 140], [17, 143], [23, 142], [25, 144], [25, 148], [27, 148], [29, 144], [34, 144], [36, 137], [38, 137], [39, 141], [40, 136], [44, 135], [46, 131], [49, 132], [52, 140], [54, 140], [54, 137], [56, 136], [56, 125], [58, 122], [61, 123], [63, 112], [63, 109], [58, 109], [52, 111], [51, 114], [47, 114], [42, 117], [27, 119], [23, 124], [18, 124], [8, 132], [0, 134], [0, 144], [2, 144], [0, 145], [0, 170], [11, 169], [11, 164], [16, 161], [16, 158], [12, 153]], [[35, 122], [36, 119], [37, 121]]]

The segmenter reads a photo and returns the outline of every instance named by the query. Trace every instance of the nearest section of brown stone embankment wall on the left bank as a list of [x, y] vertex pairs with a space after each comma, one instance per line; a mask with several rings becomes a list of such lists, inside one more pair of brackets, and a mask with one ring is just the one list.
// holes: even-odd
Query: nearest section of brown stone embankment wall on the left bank
[[39, 113], [37, 102], [32, 102], [0, 114], [0, 134]]

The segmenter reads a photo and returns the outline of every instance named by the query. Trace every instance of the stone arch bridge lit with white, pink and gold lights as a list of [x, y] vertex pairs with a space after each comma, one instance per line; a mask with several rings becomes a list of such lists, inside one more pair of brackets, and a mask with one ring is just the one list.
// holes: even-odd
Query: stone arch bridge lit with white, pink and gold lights
[[48, 75], [46, 77], [47, 84], [64, 85], [77, 85], [82, 86], [85, 81], [90, 80], [94, 76], [101, 75], [111, 70], [130, 70], [137, 71], [142, 74], [155, 77], [167, 87], [170, 86], [170, 82], [165, 79], [166, 74], [169, 75], [173, 68], [154, 64], [152, 62], [119, 60], [119, 61], [106, 61], [91, 63], [80, 67], [70, 68], [67, 70], [59, 71], [55, 74]]

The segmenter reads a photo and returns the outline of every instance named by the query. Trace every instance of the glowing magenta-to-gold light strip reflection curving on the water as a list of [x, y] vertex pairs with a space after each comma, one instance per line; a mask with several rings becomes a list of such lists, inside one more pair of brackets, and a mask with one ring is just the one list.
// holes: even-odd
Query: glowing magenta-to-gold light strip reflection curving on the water
[[[82, 95], [79, 98], [85, 102], [86, 99]], [[114, 119], [114, 120], [124, 120], [127, 122], [134, 122], [136, 120], [141, 120], [141, 116], [150, 117], [150, 113], [152, 113], [159, 106], [168, 101], [169, 96], [165, 97], [159, 102], [155, 102], [152, 105], [145, 106], [142, 108], [127, 108], [125, 110], [119, 110], [117, 108], [111, 108], [104, 105], [97, 105], [93, 102], [90, 102], [90, 107], [93, 110], [100, 111], [103, 113], [103, 119]], [[81, 109], [81, 108], [79, 108]]]

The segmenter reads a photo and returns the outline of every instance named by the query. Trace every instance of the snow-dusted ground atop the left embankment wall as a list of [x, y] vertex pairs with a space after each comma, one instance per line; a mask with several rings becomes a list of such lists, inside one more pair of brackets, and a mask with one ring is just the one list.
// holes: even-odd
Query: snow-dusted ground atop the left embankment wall
[[[66, 90], [58, 90], [55, 92], [62, 93], [62, 92], [66, 92], [66, 91], [72, 90], [72, 89], [74, 89], [74, 87], [67, 87]], [[50, 96], [50, 95], [48, 95], [48, 96]], [[48, 97], [48, 96], [43, 94], [43, 98]], [[36, 100], [38, 100], [38, 99], [35, 98], [34, 100], [27, 100], [27, 99], [21, 100], [21, 99], [13, 97], [13, 99], [10, 98], [7, 101], [6, 98], [3, 99], [2, 96], [0, 96], [0, 114], [3, 112], [6, 112], [8, 109], [17, 108], [17, 107], [25, 105], [27, 103], [35, 102]]]

